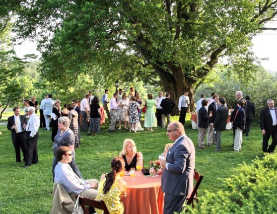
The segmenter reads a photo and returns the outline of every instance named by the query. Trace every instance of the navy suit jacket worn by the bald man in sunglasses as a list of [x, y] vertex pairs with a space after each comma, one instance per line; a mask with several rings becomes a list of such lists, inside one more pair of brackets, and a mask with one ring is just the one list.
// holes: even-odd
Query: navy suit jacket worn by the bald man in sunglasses
[[162, 175], [162, 191], [171, 195], [187, 195], [193, 188], [195, 167], [194, 145], [186, 135], [170, 148], [166, 161], [168, 169]]

